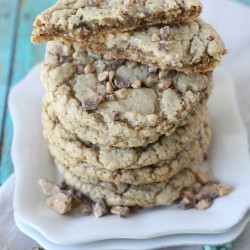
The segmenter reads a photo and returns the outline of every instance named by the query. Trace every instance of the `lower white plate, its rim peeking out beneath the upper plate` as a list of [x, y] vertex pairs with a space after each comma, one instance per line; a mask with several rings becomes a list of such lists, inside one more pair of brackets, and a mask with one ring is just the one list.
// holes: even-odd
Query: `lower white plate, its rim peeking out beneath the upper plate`
[[91, 243], [83, 243], [80, 245], [62, 246], [56, 245], [45, 239], [35, 229], [29, 227], [22, 221], [22, 219], [15, 214], [15, 221], [18, 228], [25, 234], [36, 240], [42, 247], [47, 250], [150, 250], [159, 249], [170, 246], [183, 245], [223, 245], [235, 240], [244, 230], [250, 221], [250, 213], [231, 228], [229, 231], [219, 234], [182, 234], [182, 235], [168, 235], [159, 238], [145, 239], [145, 240], [104, 240]]

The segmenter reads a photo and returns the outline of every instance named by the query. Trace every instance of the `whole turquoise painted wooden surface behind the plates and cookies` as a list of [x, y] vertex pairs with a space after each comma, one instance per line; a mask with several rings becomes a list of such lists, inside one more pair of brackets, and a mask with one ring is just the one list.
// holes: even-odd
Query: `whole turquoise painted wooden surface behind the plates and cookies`
[[[209, 1], [209, 0], [206, 0]], [[238, 0], [250, 5], [250, 0]], [[0, 185], [13, 172], [13, 126], [7, 107], [10, 89], [38, 62], [44, 47], [30, 43], [35, 16], [55, 0], [0, 0]]]

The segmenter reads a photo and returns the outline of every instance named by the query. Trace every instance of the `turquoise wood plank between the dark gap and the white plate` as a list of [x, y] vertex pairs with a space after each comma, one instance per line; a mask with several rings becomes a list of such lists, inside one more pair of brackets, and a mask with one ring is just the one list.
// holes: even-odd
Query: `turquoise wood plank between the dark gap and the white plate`
[[[30, 42], [32, 23], [37, 14], [53, 3], [55, 3], [53, 0], [36, 1], [35, 3], [34, 0], [21, 1], [13, 74], [10, 81], [11, 87], [20, 81], [36, 63], [43, 60], [44, 47], [33, 45]], [[9, 110], [7, 109], [3, 128], [3, 143], [1, 147], [1, 183], [3, 183], [3, 181], [13, 172], [13, 164], [10, 155], [12, 136], [13, 126]]]

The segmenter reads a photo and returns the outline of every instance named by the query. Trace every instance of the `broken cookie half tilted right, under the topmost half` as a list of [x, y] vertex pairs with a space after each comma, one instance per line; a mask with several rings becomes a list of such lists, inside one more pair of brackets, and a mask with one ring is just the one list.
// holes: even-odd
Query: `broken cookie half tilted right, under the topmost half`
[[[169, 32], [163, 35], [162, 32], [167, 27]], [[77, 42], [83, 47], [107, 53], [114, 58], [186, 73], [212, 71], [226, 53], [219, 34], [201, 19], [191, 23], [157, 25], [125, 33], [103, 34]]]

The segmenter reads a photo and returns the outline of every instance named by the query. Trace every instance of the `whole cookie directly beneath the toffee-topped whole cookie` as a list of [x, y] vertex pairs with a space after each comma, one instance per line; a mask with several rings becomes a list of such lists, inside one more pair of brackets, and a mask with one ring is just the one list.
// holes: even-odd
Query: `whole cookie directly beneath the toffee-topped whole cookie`
[[203, 145], [206, 148], [211, 137], [210, 122], [205, 107], [201, 114], [194, 116], [191, 123], [178, 127], [172, 135], [162, 136], [158, 141], [139, 148], [116, 148], [81, 141], [75, 134], [66, 130], [57, 117], [53, 114], [50, 117], [49, 113], [47, 106], [44, 106], [43, 131], [51, 144], [64, 150], [77, 162], [112, 171], [140, 168], [171, 160], [188, 143], [201, 138], [205, 138]]

